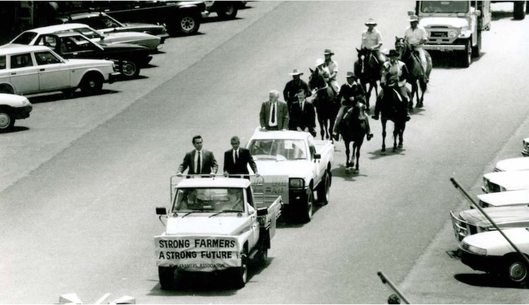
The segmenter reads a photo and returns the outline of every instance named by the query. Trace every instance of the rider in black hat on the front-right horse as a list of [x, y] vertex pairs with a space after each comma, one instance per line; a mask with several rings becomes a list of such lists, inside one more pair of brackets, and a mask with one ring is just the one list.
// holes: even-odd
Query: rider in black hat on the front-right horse
[[[399, 61], [399, 52], [392, 49], [388, 53], [389, 61], [386, 61], [382, 65], [380, 86], [387, 88], [388, 86], [395, 86], [397, 92], [401, 96], [401, 100], [406, 108], [406, 121], [410, 120], [410, 114], [408, 113], [408, 88], [406, 88], [406, 79], [408, 78], [408, 68], [406, 64]], [[384, 90], [380, 90], [379, 96], [377, 97], [377, 104], [375, 104], [375, 115], [372, 119], [379, 119], [380, 114], [380, 101], [383, 99]]]

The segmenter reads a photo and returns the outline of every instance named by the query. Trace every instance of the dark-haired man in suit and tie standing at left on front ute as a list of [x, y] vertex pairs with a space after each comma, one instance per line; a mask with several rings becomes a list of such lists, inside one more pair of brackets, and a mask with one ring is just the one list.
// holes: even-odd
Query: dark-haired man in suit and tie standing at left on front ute
[[188, 175], [215, 175], [219, 169], [219, 164], [212, 152], [202, 149], [202, 137], [196, 135], [192, 139], [194, 150], [186, 153], [182, 164], [178, 167], [177, 176], [181, 177], [186, 168], [189, 168]]

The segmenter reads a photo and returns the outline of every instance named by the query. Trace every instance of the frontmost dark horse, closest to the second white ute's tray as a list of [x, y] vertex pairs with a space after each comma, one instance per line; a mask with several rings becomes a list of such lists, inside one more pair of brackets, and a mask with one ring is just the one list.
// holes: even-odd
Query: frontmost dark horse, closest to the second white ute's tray
[[[367, 134], [366, 121], [360, 119], [361, 108], [363, 104], [357, 103], [357, 105], [352, 106], [343, 116], [343, 121], [340, 126], [340, 134], [343, 138], [343, 142], [346, 144], [346, 173], [349, 173], [350, 168], [355, 166], [355, 155], [357, 157], [357, 163], [353, 173], [359, 173], [359, 164], [360, 164], [360, 148], [363, 144], [363, 138]], [[352, 142], [352, 156], [350, 155], [350, 143]]]

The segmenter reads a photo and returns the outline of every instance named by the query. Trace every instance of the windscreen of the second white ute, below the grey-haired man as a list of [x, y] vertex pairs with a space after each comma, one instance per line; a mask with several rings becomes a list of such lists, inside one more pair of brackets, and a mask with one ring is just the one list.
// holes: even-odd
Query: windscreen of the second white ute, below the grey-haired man
[[301, 139], [255, 139], [250, 143], [255, 160], [306, 160], [305, 142]]

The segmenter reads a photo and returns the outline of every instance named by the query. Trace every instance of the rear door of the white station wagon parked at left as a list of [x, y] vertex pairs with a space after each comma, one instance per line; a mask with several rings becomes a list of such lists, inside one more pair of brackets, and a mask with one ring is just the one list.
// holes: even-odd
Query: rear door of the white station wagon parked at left
[[14, 54], [9, 57], [9, 79], [14, 92], [19, 94], [39, 91], [39, 71], [31, 52]]

